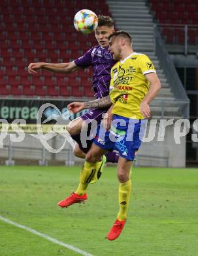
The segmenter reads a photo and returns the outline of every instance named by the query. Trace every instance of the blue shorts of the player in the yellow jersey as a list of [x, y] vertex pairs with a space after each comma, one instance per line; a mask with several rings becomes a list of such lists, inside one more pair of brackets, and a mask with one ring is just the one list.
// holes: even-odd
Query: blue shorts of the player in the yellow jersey
[[114, 115], [109, 131], [101, 123], [93, 142], [108, 151], [116, 150], [122, 158], [133, 161], [146, 130], [146, 119]]

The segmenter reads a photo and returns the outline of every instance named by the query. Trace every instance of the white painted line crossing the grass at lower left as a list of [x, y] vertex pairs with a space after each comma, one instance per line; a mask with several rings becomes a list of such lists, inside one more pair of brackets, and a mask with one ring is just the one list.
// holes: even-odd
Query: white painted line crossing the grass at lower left
[[67, 249], [71, 249], [72, 251], [75, 251], [76, 253], [82, 254], [84, 256], [93, 256], [92, 254], [87, 253], [86, 251], [82, 251], [81, 249], [78, 249], [77, 247], [74, 247], [73, 245], [65, 244], [65, 243], [63, 243], [61, 241], [56, 240], [55, 238], [51, 238], [50, 236], [47, 236], [46, 234], [40, 233], [37, 230], [34, 230], [32, 228], [28, 228], [27, 226], [24, 226], [24, 225], [21, 225], [21, 224], [18, 224], [18, 223], [14, 223], [14, 221], [10, 221], [10, 220], [4, 218], [1, 215], [0, 215], [0, 220], [4, 221], [5, 223], [9, 223], [9, 224], [11, 224], [13, 226], [17, 226], [18, 228], [22, 228], [24, 230], [27, 230], [27, 231], [29, 231], [29, 232], [31, 232], [33, 234], [36, 234], [37, 236], [41, 236], [42, 238], [45, 238], [46, 240], [49, 240], [49, 241], [51, 241], [54, 244], [61, 245], [63, 247], [66, 247]]

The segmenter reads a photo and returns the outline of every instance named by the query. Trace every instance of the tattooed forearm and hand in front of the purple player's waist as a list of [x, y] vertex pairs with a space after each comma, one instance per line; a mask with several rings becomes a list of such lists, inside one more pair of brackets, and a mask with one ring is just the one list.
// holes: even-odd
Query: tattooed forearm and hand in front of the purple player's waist
[[80, 110], [87, 108], [108, 108], [111, 105], [112, 102], [110, 101], [110, 96], [108, 95], [104, 98], [98, 98], [97, 100], [90, 100], [87, 102], [72, 102], [67, 106], [67, 108], [75, 114]]

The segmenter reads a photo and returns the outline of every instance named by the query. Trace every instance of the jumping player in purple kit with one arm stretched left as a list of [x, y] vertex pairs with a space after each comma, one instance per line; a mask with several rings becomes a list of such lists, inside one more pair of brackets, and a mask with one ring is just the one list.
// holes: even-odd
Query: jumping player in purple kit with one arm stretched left
[[[58, 72], [63, 74], [69, 74], [75, 72], [80, 68], [87, 68], [92, 66], [93, 68], [93, 90], [95, 91], [95, 98], [103, 98], [108, 95], [109, 83], [110, 83], [110, 69], [114, 65], [115, 61], [112, 55], [108, 52], [108, 36], [114, 32], [114, 22], [112, 18], [108, 16], [99, 16], [99, 24], [95, 31], [95, 38], [99, 45], [92, 47], [83, 56], [80, 56], [73, 62], [69, 63], [44, 63], [37, 62], [31, 63], [28, 66], [29, 74], [37, 73], [36, 70], [44, 69], [52, 72]], [[103, 114], [107, 112], [107, 108], [102, 110], [91, 109], [86, 114], [74, 119], [67, 125], [67, 131], [71, 137], [77, 142], [74, 147], [74, 155], [79, 158], [85, 158], [86, 152], [90, 149], [92, 140], [87, 140], [87, 146], [82, 145], [80, 139], [80, 133], [84, 127], [87, 129], [87, 124], [91, 123], [91, 119], [95, 119], [99, 123], [103, 117]], [[90, 129], [90, 124], [88, 129]], [[89, 131], [88, 131], [89, 132]], [[110, 152], [107, 155], [107, 161], [117, 161], [118, 156], [115, 152]], [[95, 174], [97, 175], [97, 173]], [[95, 178], [93, 178], [95, 179]]]

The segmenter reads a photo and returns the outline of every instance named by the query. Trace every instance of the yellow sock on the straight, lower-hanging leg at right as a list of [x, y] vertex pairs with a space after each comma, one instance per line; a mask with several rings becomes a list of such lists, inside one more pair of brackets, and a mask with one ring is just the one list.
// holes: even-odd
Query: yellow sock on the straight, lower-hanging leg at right
[[129, 207], [129, 199], [131, 195], [131, 180], [120, 183], [119, 185], [119, 205], [120, 211], [117, 215], [119, 221], [127, 219], [127, 211]]

